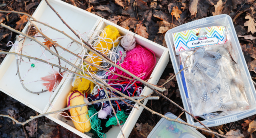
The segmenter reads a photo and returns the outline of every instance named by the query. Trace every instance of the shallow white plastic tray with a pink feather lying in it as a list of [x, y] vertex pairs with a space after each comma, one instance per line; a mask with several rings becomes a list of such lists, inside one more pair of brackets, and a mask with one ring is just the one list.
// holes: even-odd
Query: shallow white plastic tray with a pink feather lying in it
[[[65, 20], [65, 22], [71, 27], [76, 30], [79, 30], [80, 32], [87, 32], [89, 30], [94, 30], [96, 26], [101, 21], [101, 18], [99, 16], [96, 16], [90, 12], [87, 12], [85, 10], [82, 10], [80, 8], [70, 6], [70, 4], [67, 4], [65, 2], [62, 2], [60, 0], [49, 0], [50, 4], [62, 18]], [[66, 32], [67, 34], [70, 34], [71, 37], [76, 38], [76, 36], [64, 25], [62, 24], [61, 20], [58, 18], [58, 16], [50, 9], [49, 6], [47, 6], [46, 2], [43, 0], [34, 14], [32, 15], [34, 18], [41, 22], [46, 22], [49, 25], [62, 30]], [[88, 22], [90, 20], [90, 22]], [[34, 22], [35, 24], [38, 24]], [[26, 33], [26, 30], [28, 28], [28, 24], [25, 26], [23, 33]], [[42, 30], [46, 30], [46, 26], [39, 24], [38, 28], [41, 28]], [[57, 39], [58, 44], [66, 48], [72, 40], [70, 40], [68, 37], [64, 36], [63, 34], [52, 30], [48, 28], [44, 34], [48, 36], [51, 39], [56, 38], [65, 38], [65, 39]], [[37, 38], [40, 42], [45, 42], [43, 38]], [[15, 44], [18, 44], [19, 47], [22, 46], [22, 42], [18, 43], [18, 41], [15, 42]], [[23, 50], [27, 52], [29, 55], [39, 58], [38, 55], [42, 54], [42, 48], [41, 46], [37, 45], [36, 42], [30, 41], [29, 39], [26, 39], [24, 45], [31, 44], [28, 46], [24, 46]], [[59, 54], [63, 52], [62, 49], [56, 47]], [[55, 52], [54, 48], [50, 48], [52, 51]], [[77, 54], [80, 51], [80, 48], [78, 46], [72, 45], [68, 50], [73, 51], [75, 54]], [[14, 48], [10, 50], [10, 52], [14, 52]], [[28, 55], [25, 52], [22, 52], [22, 54]], [[46, 51], [44, 52], [46, 57], [53, 58], [54, 56], [50, 54], [50, 52]], [[60, 56], [66, 59], [70, 59], [73, 57], [72, 54], [69, 54], [68, 52], [62, 53]], [[28, 59], [22, 58], [25, 62], [29, 62]], [[44, 55], [41, 56], [41, 59], [45, 60]], [[77, 59], [76, 59], [77, 60]], [[76, 60], [70, 60], [72, 63], [76, 63]], [[35, 60], [30, 60], [31, 63], [36, 62]], [[54, 58], [52, 60], [49, 60], [49, 62], [53, 64], [58, 64], [58, 58]], [[62, 62], [62, 60], [61, 60]], [[31, 68], [31, 63], [24, 63], [21, 62], [20, 64], [20, 75], [23, 78], [25, 74], [27, 73], [28, 69]], [[47, 76], [49, 72], [52, 72], [51, 68], [46, 66], [44, 63], [38, 63], [35, 64], [36, 66], [30, 70], [30, 72], [23, 78], [24, 83], [32, 82], [35, 80], [41, 80], [41, 77]], [[64, 67], [66, 64], [62, 64]], [[67, 64], [66, 68], [71, 69], [71, 67]], [[58, 70], [54, 67], [55, 70]], [[58, 90], [61, 88], [62, 84], [66, 80], [65, 78], [62, 79], [60, 84], [58, 85], [58, 88], [56, 88], [55, 92], [52, 94], [50, 92], [44, 92], [42, 94], [31, 94], [24, 90], [22, 88], [22, 85], [20, 84], [18, 75], [16, 76], [16, 58], [14, 55], [7, 55], [2, 64], [0, 65], [0, 90], [9, 96], [15, 98], [19, 102], [22, 102], [23, 104], [29, 106], [33, 110], [36, 110], [39, 113], [44, 113], [50, 106], [50, 101], [53, 100], [54, 96], [57, 94]], [[67, 75], [65, 75], [66, 77]], [[25, 84], [26, 88], [29, 90], [32, 90], [34, 92], [42, 91], [42, 89], [46, 90], [46, 88], [41, 84], [40, 82], [33, 82], [30, 84]]]

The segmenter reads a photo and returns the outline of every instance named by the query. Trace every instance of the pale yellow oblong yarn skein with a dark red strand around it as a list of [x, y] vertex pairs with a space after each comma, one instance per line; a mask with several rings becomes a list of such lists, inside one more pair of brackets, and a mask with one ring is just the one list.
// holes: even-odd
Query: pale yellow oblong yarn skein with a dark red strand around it
[[[68, 94], [67, 104], [68, 104], [68, 106], [76, 106], [76, 105], [79, 105], [79, 104], [85, 104], [84, 95], [81, 94], [78, 91], [70, 92]], [[85, 122], [89, 118], [87, 106], [83, 106], [82, 109], [80, 107], [71, 108], [69, 110], [69, 112], [70, 112], [71, 116], [75, 116], [75, 117], [72, 117], [72, 118], [74, 120], [76, 120], [77, 122]], [[80, 115], [80, 116], [78, 116], [78, 115]], [[74, 126], [80, 132], [84, 133], [84, 132], [89, 132], [91, 130], [90, 121], [88, 121], [86, 123], [77, 123], [77, 122], [73, 121]]]

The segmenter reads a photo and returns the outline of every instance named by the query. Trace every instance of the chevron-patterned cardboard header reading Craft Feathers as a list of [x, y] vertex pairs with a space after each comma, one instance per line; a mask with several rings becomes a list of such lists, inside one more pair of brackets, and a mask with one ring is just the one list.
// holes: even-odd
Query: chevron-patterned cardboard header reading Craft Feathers
[[191, 50], [202, 46], [225, 44], [226, 28], [224, 26], [211, 26], [176, 32], [172, 34], [176, 54], [184, 50]]

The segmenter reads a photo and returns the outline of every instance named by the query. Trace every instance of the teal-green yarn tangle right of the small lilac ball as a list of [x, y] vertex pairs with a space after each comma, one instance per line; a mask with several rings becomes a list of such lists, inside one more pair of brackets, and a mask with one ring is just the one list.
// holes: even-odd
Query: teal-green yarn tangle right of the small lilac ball
[[[126, 119], [128, 118], [128, 115], [124, 113], [124, 110], [118, 111], [116, 116], [118, 118], [118, 121], [119, 121], [120, 125], [124, 124]], [[108, 127], [110, 125], [114, 125], [114, 126], [117, 125], [117, 120], [116, 120], [115, 116], [112, 117], [112, 118], [109, 118], [108, 122], [106, 123], [106, 127]]]

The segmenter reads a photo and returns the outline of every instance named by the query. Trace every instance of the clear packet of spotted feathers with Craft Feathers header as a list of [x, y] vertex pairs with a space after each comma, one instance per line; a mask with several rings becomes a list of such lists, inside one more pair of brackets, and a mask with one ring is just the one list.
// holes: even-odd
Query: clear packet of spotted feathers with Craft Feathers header
[[250, 108], [224, 26], [177, 32], [172, 37], [180, 69], [188, 67], [181, 75], [194, 116], [207, 120]]

